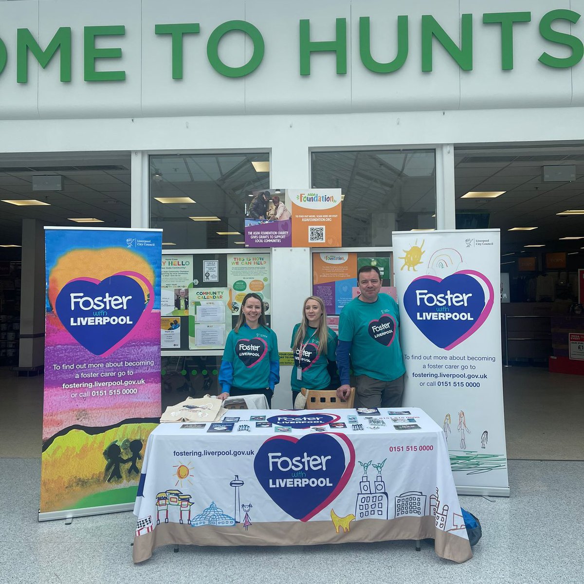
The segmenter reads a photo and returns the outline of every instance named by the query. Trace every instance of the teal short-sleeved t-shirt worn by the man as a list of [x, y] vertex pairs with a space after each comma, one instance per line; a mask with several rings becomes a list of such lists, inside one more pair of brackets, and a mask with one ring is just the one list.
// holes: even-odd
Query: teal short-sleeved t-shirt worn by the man
[[353, 298], [340, 312], [339, 340], [352, 341], [351, 363], [355, 375], [393, 381], [405, 373], [399, 345], [397, 302], [380, 293], [374, 303]]

